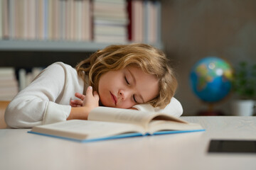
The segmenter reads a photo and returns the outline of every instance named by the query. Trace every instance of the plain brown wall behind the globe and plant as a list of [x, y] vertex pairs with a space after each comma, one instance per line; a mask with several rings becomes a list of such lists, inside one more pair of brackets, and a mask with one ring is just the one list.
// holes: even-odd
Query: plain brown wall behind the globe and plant
[[[256, 62], [256, 1], [171, 0], [162, 2], [162, 39], [166, 55], [178, 75], [176, 98], [183, 115], [194, 115], [206, 105], [191, 91], [189, 72], [207, 56], [218, 56], [235, 65], [242, 60]], [[216, 104], [230, 113], [230, 95]]]

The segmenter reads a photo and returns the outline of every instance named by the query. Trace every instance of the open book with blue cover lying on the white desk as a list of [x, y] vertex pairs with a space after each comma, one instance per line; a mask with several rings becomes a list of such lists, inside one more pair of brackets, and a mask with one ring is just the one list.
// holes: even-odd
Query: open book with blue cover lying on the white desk
[[147, 113], [122, 108], [97, 107], [88, 120], [68, 120], [38, 125], [30, 133], [78, 142], [122, 137], [204, 131], [201, 125], [188, 123], [164, 113]]

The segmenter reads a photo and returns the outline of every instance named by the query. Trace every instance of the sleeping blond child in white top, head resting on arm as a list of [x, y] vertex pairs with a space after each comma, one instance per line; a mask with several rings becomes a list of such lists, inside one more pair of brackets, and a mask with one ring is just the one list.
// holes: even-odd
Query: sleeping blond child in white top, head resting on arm
[[182, 107], [173, 98], [177, 81], [167, 63], [163, 52], [145, 44], [110, 45], [76, 69], [56, 62], [15, 96], [6, 108], [6, 123], [11, 128], [31, 128], [86, 120], [99, 104], [179, 116]]

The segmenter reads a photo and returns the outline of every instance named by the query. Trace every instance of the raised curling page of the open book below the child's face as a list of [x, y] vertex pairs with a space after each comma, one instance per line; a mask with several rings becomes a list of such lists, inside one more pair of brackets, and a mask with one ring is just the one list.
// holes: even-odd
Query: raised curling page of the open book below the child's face
[[88, 120], [134, 123], [146, 127], [152, 116], [154, 116], [154, 113], [147, 113], [132, 109], [97, 107], [89, 113]]

